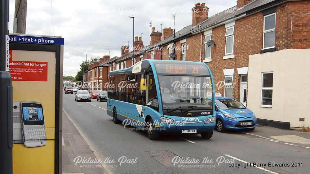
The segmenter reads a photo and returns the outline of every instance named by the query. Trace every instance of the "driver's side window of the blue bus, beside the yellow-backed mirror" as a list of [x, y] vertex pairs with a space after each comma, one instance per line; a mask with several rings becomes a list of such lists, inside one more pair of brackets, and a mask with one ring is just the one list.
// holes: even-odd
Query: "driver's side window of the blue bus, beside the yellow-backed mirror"
[[153, 75], [148, 76], [147, 90], [148, 90], [148, 98], [147, 98], [148, 101], [146, 105], [158, 111], [159, 109], [158, 109], [157, 91]]

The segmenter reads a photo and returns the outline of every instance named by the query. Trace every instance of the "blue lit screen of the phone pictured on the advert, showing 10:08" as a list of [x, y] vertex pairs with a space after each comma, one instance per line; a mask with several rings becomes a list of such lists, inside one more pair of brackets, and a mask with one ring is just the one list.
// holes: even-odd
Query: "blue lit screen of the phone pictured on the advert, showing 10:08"
[[38, 103], [22, 103], [24, 125], [44, 124], [42, 105]]

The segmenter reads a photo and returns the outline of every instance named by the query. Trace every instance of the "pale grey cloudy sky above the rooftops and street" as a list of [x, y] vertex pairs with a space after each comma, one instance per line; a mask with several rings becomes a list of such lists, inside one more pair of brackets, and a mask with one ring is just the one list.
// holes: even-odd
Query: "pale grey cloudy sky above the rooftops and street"
[[[235, 0], [196, 0], [206, 3], [209, 16], [237, 5]], [[75, 76], [79, 64], [91, 57], [120, 56], [121, 46], [132, 43], [132, 19], [135, 36], [144, 45], [150, 42], [149, 22], [155, 30], [176, 31], [192, 24], [194, 0], [28, 0], [26, 34], [56, 35], [64, 38], [64, 75]], [[52, 5], [52, 6], [51, 6]], [[52, 7], [52, 8], [51, 8]], [[10, 30], [13, 29], [15, 1], [10, 1]], [[53, 17], [52, 17], [53, 14]], [[53, 20], [52, 20], [53, 19]], [[54, 27], [53, 27], [54, 26]], [[10, 31], [12, 33], [12, 31]]]

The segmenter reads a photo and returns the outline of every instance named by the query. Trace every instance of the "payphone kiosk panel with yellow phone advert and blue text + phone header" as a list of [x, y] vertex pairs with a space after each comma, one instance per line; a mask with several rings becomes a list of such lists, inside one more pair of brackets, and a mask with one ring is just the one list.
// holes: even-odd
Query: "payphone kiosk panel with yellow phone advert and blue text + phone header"
[[13, 173], [59, 173], [63, 38], [10, 35]]

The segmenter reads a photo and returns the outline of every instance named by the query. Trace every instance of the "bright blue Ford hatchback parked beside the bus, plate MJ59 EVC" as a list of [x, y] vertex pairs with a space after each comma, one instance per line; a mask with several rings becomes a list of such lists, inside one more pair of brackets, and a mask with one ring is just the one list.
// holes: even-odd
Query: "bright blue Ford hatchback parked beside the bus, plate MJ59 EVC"
[[228, 97], [215, 97], [216, 126], [218, 132], [232, 130], [254, 130], [255, 114], [239, 101]]

